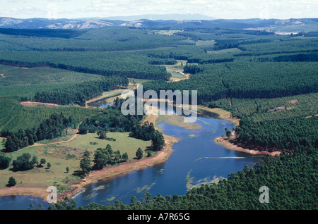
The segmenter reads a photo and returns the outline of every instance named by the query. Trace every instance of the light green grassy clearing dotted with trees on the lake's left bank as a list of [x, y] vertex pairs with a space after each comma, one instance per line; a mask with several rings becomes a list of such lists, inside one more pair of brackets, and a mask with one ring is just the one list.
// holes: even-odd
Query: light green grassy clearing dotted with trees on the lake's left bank
[[[71, 131], [69, 135], [71, 135]], [[31, 156], [37, 156], [39, 161], [41, 158], [45, 158], [47, 163], [51, 163], [52, 166], [47, 169], [47, 165], [45, 164], [41, 168], [35, 167], [32, 170], [13, 172], [10, 170], [12, 167], [11, 161], [9, 168], [0, 170], [0, 191], [8, 189], [6, 184], [8, 183], [8, 178], [11, 176], [16, 179], [16, 187], [23, 188], [25, 192], [28, 192], [28, 189], [31, 188], [47, 189], [47, 187], [53, 185], [57, 186], [59, 192], [70, 189], [71, 183], [78, 180], [72, 174], [75, 170], [79, 170], [79, 161], [85, 149], [88, 149], [92, 153], [93, 158], [95, 149], [106, 147], [107, 144], [110, 144], [114, 151], [119, 150], [121, 154], [126, 152], [129, 155], [129, 160], [134, 161], [133, 158], [136, 156], [136, 151], [139, 147], [145, 151], [147, 147], [151, 146], [151, 141], [134, 139], [128, 135], [128, 132], [107, 133], [107, 137], [116, 139], [113, 142], [98, 139], [97, 134], [89, 133], [87, 135], [78, 135], [70, 142], [33, 146], [6, 154], [13, 161], [23, 153], [29, 153]], [[54, 140], [56, 141], [57, 139]], [[144, 153], [144, 156], [146, 156], [146, 153]], [[66, 167], [69, 167], [69, 173], [66, 173]]]

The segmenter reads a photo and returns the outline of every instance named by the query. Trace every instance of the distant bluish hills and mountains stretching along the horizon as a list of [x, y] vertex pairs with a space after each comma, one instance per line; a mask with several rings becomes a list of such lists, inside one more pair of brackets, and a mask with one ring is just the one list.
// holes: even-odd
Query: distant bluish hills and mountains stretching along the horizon
[[[141, 19], [136, 19], [141, 18]], [[160, 19], [160, 18], [166, 18]], [[172, 18], [190, 18], [190, 19], [172, 19]], [[192, 18], [192, 19], [191, 19]], [[213, 19], [208, 16], [200, 15], [139, 15], [128, 17], [112, 18], [76, 18], [76, 19], [47, 19], [47, 18], [8, 18], [0, 17], [0, 28], [11, 29], [93, 29], [111, 26], [139, 27], [139, 28], [157, 28], [157, 29], [185, 29], [185, 28], [236, 28], [236, 29], [254, 29], [258, 27], [302, 27], [314, 25], [317, 28], [317, 18], [290, 18], [288, 20], [278, 19], [242, 19], [225, 20]], [[205, 18], [205, 19], [204, 19]], [[314, 30], [317, 31], [317, 30]]]

